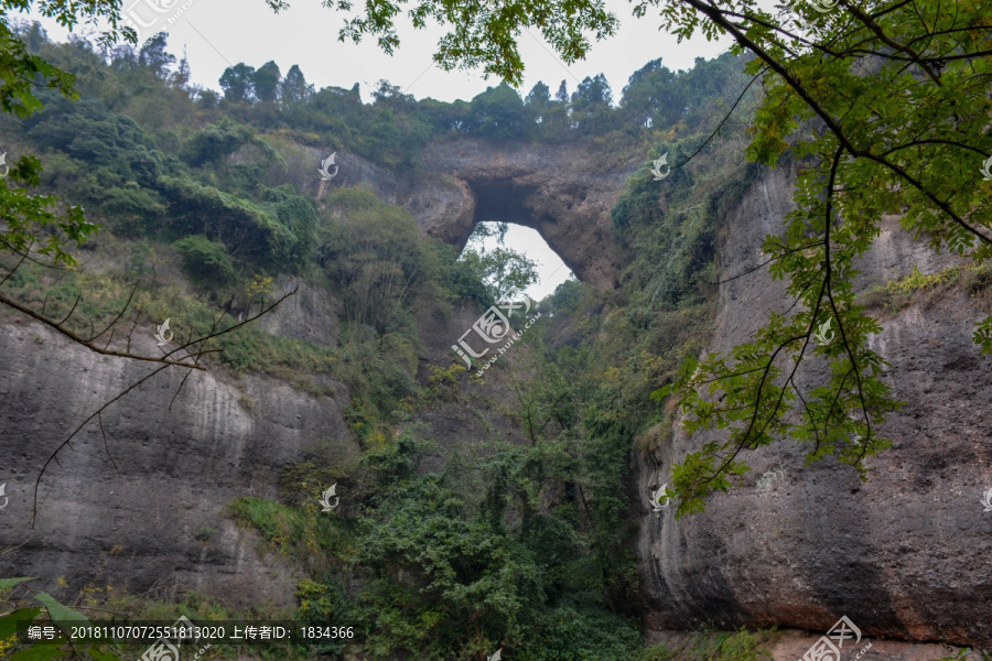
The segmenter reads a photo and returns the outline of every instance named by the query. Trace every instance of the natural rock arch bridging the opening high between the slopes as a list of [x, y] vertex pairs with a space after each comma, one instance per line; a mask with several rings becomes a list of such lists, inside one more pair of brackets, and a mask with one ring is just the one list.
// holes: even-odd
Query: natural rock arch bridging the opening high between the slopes
[[628, 172], [597, 171], [574, 147], [475, 140], [434, 145], [422, 163], [430, 174], [406, 205], [429, 236], [461, 249], [476, 223], [531, 227], [580, 280], [616, 286], [624, 249], [610, 212]]

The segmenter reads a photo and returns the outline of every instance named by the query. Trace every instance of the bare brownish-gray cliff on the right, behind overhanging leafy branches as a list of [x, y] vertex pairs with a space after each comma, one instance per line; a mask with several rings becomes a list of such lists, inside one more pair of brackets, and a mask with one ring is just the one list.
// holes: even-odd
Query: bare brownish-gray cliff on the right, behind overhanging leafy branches
[[[763, 261], [762, 240], [783, 231], [791, 209], [794, 178], [788, 167], [764, 172], [726, 218], [722, 278]], [[952, 263], [892, 219], [858, 284]], [[710, 350], [745, 342], [768, 311], [784, 311], [784, 290], [767, 269], [721, 285]], [[711, 497], [704, 514], [646, 513], [638, 553], [649, 627], [697, 620], [826, 632], [847, 615], [873, 637], [989, 647], [992, 514], [979, 500], [992, 487], [992, 357], [971, 342], [983, 316], [958, 292], [882, 323], [872, 348], [892, 364], [886, 378], [906, 405], [880, 430], [894, 447], [870, 459], [866, 483], [832, 458], [802, 468], [804, 449], [780, 442], [751, 452], [745, 485]], [[805, 383], [822, 373], [804, 367]], [[676, 424], [669, 442], [639, 458], [645, 511], [671, 462], [702, 442]]]

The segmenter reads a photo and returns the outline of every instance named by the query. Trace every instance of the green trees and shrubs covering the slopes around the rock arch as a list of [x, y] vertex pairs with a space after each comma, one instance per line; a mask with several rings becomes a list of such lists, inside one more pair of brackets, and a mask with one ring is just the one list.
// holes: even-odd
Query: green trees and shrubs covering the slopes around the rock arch
[[[208, 358], [233, 373], [269, 373], [317, 395], [335, 395], [324, 384], [330, 378], [351, 394], [345, 418], [360, 457], [342, 460], [335, 440], [319, 441], [283, 469], [281, 502], [242, 498], [228, 508], [270, 551], [308, 573], [296, 616], [314, 624], [343, 618], [362, 631], [371, 658], [479, 657], [498, 647], [533, 661], [632, 658], [643, 644], [629, 449], [638, 432], [668, 414], [650, 393], [704, 336], [712, 288], [703, 274], [712, 269], [721, 191], [701, 171], [675, 176], [670, 204], [702, 203], [683, 223], [679, 213], [658, 210], [646, 171], [632, 177], [616, 227], [644, 257], [630, 266], [616, 301], [578, 282], [548, 301], [553, 327], [574, 326], [587, 347], [560, 346], [551, 325], [528, 340], [530, 376], [515, 381], [516, 403], [500, 412], [526, 442], [493, 433], [475, 440], [486, 448], [482, 456], [455, 453], [428, 469], [422, 459], [431, 442], [419, 418], [436, 405], [486, 414], [493, 404], [473, 400], [461, 366], [432, 366], [429, 378], [418, 378], [418, 313], [485, 308], [526, 286], [532, 264], [505, 247], [459, 259], [368, 188], [335, 187], [316, 203], [285, 182], [313, 176], [312, 162], [305, 171], [301, 164], [301, 143], [337, 139], [386, 165], [412, 162], [428, 139], [508, 139], [507, 127], [515, 128], [513, 139], [530, 127], [525, 139], [551, 141], [578, 130], [603, 151], [662, 136], [671, 141], [666, 149], [694, 149], [703, 140], [703, 101], [726, 105], [740, 66], [724, 57], [671, 74], [651, 63], [625, 90], [630, 104], [618, 108], [608, 105], [603, 80], [587, 80], [560, 101], [537, 89], [524, 102], [502, 86], [445, 108], [382, 86], [363, 105], [305, 85], [266, 100], [254, 74], [240, 69], [226, 75], [225, 98], [211, 101], [170, 74], [163, 40], [143, 55], [125, 48], [104, 63], [84, 41], [50, 44], [26, 25], [21, 34], [78, 73], [84, 98], [44, 93], [40, 113], [0, 121], [22, 136], [19, 148], [40, 153], [42, 186], [85, 204], [103, 230], [83, 252], [99, 268], [22, 267], [7, 284], [20, 301], [57, 316], [85, 293], [82, 314], [69, 322], [82, 328], [111, 321], [137, 286], [142, 323], [171, 315], [183, 335], [207, 330], [220, 312], [220, 329], [230, 327], [272, 300], [276, 279], [290, 275], [341, 302], [336, 346], [248, 326], [218, 337], [223, 351]], [[703, 79], [709, 86], [699, 85]], [[152, 96], [173, 107], [159, 112], [147, 102]], [[662, 98], [679, 99], [689, 115], [662, 116]], [[556, 119], [565, 109], [578, 129]], [[424, 131], [408, 130], [428, 110], [448, 115]], [[630, 113], [643, 116], [634, 132], [626, 128]], [[182, 123], [172, 119], [180, 116]], [[323, 124], [330, 117], [345, 119]], [[402, 136], [398, 151], [364, 142], [395, 131]], [[658, 271], [662, 254], [668, 266]], [[188, 286], [175, 286], [180, 274]], [[672, 337], [676, 327], [682, 333]], [[349, 494], [347, 516], [319, 516], [313, 494], [333, 483]], [[196, 540], [209, 545], [212, 534]]]

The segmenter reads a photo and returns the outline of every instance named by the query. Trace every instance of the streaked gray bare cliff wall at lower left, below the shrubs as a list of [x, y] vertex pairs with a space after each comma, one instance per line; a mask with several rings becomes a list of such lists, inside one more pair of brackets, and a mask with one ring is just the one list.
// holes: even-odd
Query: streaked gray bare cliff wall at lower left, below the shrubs
[[[145, 336], [136, 348], [152, 354], [151, 330]], [[33, 323], [0, 324], [0, 479], [10, 496], [0, 540], [13, 546], [0, 556], [0, 574], [142, 590], [169, 581], [239, 608], [290, 605], [290, 567], [261, 557], [257, 535], [222, 510], [240, 496], [276, 497], [279, 469], [310, 443], [351, 438], [341, 383], [334, 398], [313, 398], [268, 377], [196, 371], [170, 410], [185, 370], [166, 369], [103, 415], [106, 448], [94, 421], [48, 466], [30, 528], [46, 458], [152, 369], [69, 346]], [[209, 543], [195, 539], [203, 527], [217, 530]]]

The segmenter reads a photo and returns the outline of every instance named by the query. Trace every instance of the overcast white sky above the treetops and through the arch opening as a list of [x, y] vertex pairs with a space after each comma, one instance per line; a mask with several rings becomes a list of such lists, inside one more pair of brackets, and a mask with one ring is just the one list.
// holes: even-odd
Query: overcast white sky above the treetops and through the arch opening
[[[160, 17], [154, 29], [141, 34], [144, 39], [180, 11], [179, 18], [168, 25], [169, 50], [179, 56], [185, 48], [193, 83], [212, 89], [219, 90], [217, 80], [228, 66], [244, 62], [259, 67], [270, 59], [283, 74], [299, 64], [308, 82], [317, 89], [332, 85], [351, 88], [359, 83], [365, 101], [370, 100], [369, 91], [382, 78], [418, 99], [444, 101], [471, 100], [486, 87], [499, 84], [495, 78], [484, 79], [477, 72], [445, 73], [433, 66], [431, 55], [443, 33], [440, 29], [418, 31], [401, 22], [401, 44], [392, 57], [382, 53], [374, 40], [357, 45], [342, 43], [337, 33], [343, 15], [322, 7], [321, 0], [290, 0], [290, 9], [279, 14], [265, 0], [125, 0], [122, 6], [145, 22]], [[155, 14], [152, 6], [171, 11]], [[614, 100], [619, 100], [627, 78], [648, 61], [661, 57], [670, 69], [684, 69], [692, 66], [696, 57], [715, 57], [730, 45], [730, 40], [708, 42], [701, 35], [678, 44], [676, 37], [658, 30], [657, 15], [635, 19], [626, 0], [606, 0], [606, 7], [619, 19], [617, 34], [594, 43], [585, 61], [568, 67], [536, 31], [520, 35], [527, 67], [521, 96], [538, 80], [544, 82], [552, 93], [561, 80], [567, 80], [573, 91], [585, 76], [602, 73], [610, 80]], [[54, 21], [42, 23], [52, 39], [66, 37], [67, 32]], [[506, 242], [540, 262], [542, 282], [528, 291], [535, 299], [551, 293], [568, 277], [569, 270], [535, 230], [511, 225]]]

